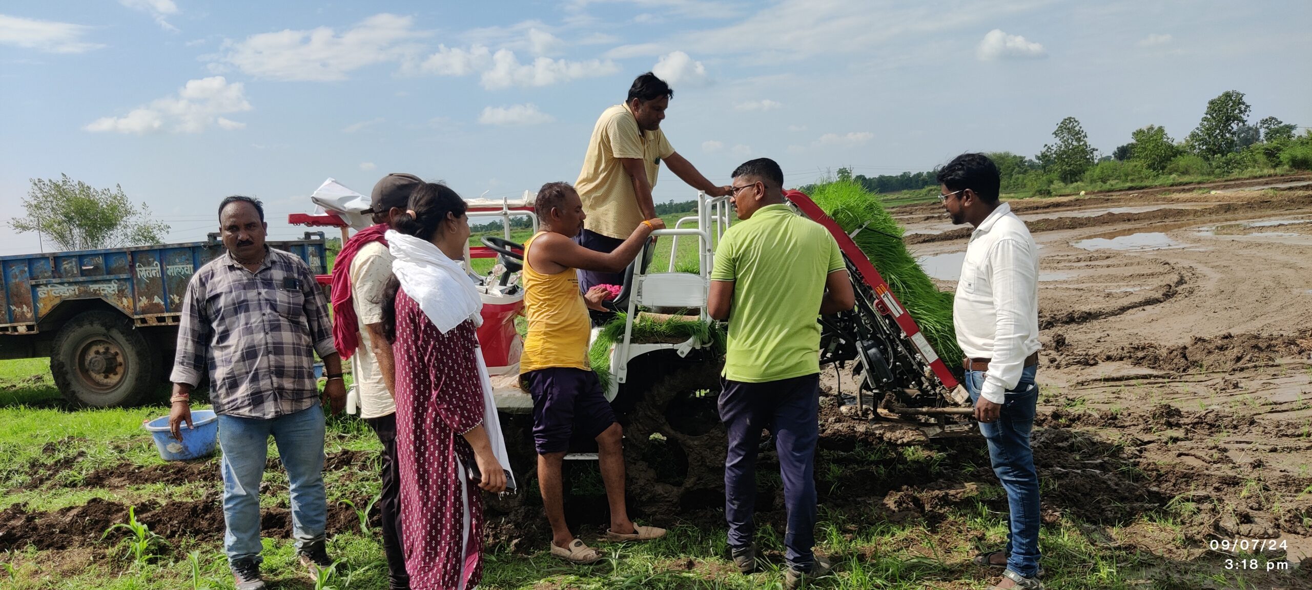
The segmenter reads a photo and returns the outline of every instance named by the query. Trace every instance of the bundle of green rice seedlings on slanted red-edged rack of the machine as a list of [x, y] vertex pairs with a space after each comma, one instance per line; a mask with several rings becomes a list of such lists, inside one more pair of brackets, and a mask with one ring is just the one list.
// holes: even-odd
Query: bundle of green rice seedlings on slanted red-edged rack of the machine
[[953, 328], [953, 294], [934, 287], [934, 282], [907, 250], [901, 226], [884, 211], [879, 199], [851, 181], [816, 185], [811, 199], [848, 235], [861, 228], [853, 241], [911, 312], [939, 358], [951, 368], [959, 367], [962, 349], [956, 345]]

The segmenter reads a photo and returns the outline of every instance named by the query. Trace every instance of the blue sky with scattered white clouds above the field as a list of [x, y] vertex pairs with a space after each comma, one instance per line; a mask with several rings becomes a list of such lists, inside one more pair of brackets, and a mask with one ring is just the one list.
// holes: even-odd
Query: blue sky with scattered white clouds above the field
[[[0, 220], [60, 173], [121, 184], [174, 241], [214, 231], [228, 194], [299, 235], [286, 215], [327, 177], [572, 182], [597, 115], [653, 68], [676, 89], [670, 143], [722, 182], [760, 156], [790, 185], [1033, 156], [1067, 115], [1110, 153], [1149, 123], [1182, 138], [1228, 89], [1253, 121], [1308, 126], [1309, 20], [1302, 0], [10, 0]], [[693, 191], [664, 172], [655, 195]], [[0, 254], [37, 250], [0, 235]]]

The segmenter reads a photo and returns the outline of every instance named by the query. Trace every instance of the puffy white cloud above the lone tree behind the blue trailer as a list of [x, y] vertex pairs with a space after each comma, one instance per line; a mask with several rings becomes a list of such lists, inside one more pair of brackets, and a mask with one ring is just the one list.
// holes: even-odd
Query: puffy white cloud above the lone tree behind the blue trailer
[[223, 76], [211, 76], [188, 80], [176, 96], [154, 100], [123, 117], [102, 117], [83, 128], [136, 135], [155, 131], [195, 134], [210, 125], [237, 130], [245, 127], [245, 123], [219, 115], [247, 110], [251, 110], [251, 102], [247, 102], [241, 83], [228, 84]]

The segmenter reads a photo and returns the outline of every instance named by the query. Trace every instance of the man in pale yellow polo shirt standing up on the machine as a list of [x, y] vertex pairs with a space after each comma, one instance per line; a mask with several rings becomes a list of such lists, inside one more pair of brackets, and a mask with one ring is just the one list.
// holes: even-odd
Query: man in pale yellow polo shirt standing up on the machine
[[[711, 197], [728, 194], [728, 186], [715, 186], [669, 144], [660, 122], [674, 90], [655, 73], [647, 72], [628, 88], [628, 100], [601, 113], [588, 140], [583, 170], [575, 190], [588, 212], [588, 227], [575, 241], [590, 250], [611, 252], [634, 233], [644, 219], [656, 218], [652, 187], [661, 160], [684, 182]], [[597, 285], [621, 285], [623, 273], [579, 270], [579, 288], [588, 292]]]

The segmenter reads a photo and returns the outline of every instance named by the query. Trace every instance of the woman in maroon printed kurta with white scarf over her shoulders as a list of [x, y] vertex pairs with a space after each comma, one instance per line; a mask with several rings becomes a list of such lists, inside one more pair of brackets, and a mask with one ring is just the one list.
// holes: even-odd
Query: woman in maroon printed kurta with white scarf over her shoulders
[[[468, 590], [483, 578], [479, 488], [504, 490], [505, 472], [483, 427], [474, 325], [482, 303], [455, 262], [470, 236], [464, 201], [445, 186], [421, 185], [391, 226], [383, 333], [395, 362], [405, 572], [413, 590]], [[470, 480], [470, 465], [480, 481]]]

